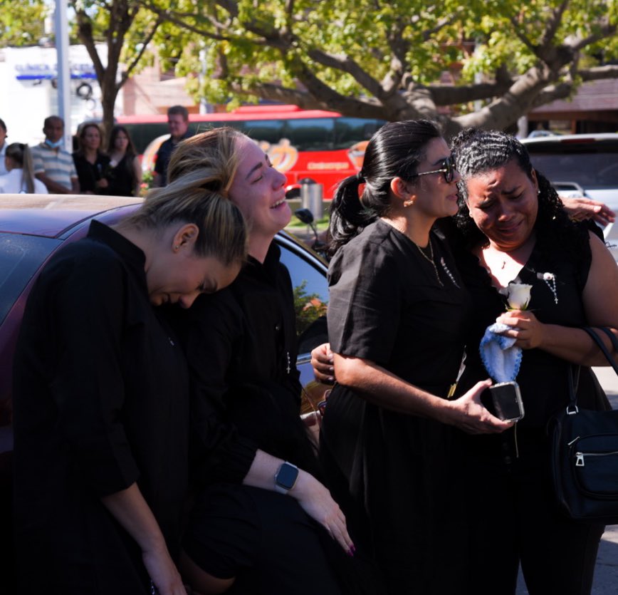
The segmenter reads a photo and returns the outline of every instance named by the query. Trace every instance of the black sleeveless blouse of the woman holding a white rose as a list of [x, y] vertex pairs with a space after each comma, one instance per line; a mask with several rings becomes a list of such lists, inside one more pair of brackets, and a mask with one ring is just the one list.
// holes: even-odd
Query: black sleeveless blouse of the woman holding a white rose
[[[529, 308], [539, 321], [562, 326], [585, 326], [587, 324], [582, 293], [585, 288], [592, 253], [588, 230], [582, 234], [581, 253], [578, 262], [563, 253], [559, 247], [545, 246], [537, 242], [528, 262], [513, 281], [532, 285]], [[466, 371], [461, 390], [473, 383], [488, 378], [478, 346], [487, 326], [506, 311], [506, 298], [491, 284], [488, 271], [474, 254], [468, 250], [456, 251], [459, 271], [466, 281], [475, 304], [470, 331], [466, 338]], [[550, 283], [543, 280], [544, 273], [555, 275], [555, 295]], [[556, 303], [557, 298], [557, 303]], [[557, 408], [567, 403], [567, 374], [570, 364], [542, 349], [525, 349], [520, 371], [515, 379], [520, 385], [525, 417], [518, 427], [544, 430], [550, 416]], [[589, 367], [582, 366], [578, 390], [578, 402], [586, 408], [604, 408], [604, 397], [596, 378]]]

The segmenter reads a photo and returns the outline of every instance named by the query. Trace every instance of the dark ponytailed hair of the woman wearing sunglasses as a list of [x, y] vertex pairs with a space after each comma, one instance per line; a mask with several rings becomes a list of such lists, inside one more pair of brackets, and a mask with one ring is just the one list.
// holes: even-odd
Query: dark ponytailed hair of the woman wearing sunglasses
[[[428, 120], [389, 122], [372, 136], [359, 175], [345, 178], [330, 207], [330, 254], [360, 234], [391, 208], [391, 181], [412, 180], [425, 157], [427, 143], [441, 138]], [[365, 188], [359, 197], [360, 185]]]

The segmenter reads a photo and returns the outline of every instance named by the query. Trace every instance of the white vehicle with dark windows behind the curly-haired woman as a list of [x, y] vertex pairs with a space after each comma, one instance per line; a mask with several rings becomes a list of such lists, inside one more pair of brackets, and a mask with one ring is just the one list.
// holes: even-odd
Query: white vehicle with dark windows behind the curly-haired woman
[[599, 200], [618, 212], [618, 134], [523, 138], [534, 167], [561, 195]]

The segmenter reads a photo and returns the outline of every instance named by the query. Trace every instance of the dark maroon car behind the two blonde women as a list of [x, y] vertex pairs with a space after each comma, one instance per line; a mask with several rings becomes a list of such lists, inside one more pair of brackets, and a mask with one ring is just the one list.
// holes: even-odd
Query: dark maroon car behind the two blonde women
[[[12, 532], [13, 355], [26, 299], [43, 264], [64, 244], [84, 237], [92, 219], [115, 224], [133, 212], [140, 202], [135, 197], [0, 195], [0, 536], [3, 546]], [[301, 347], [298, 366], [305, 385], [303, 412], [309, 413], [324, 390], [320, 391], [313, 379], [310, 350], [325, 341], [327, 265], [290, 234], [279, 233], [276, 242], [294, 286]], [[7, 554], [10, 549], [3, 547], [3, 552], [1, 592], [9, 594], [13, 587], [7, 577], [12, 576], [14, 562]]]

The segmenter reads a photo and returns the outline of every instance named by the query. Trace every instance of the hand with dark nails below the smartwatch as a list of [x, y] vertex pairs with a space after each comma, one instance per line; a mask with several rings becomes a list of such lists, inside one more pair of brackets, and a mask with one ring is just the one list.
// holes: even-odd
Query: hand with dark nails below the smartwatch
[[355, 547], [347, 533], [345, 516], [324, 485], [313, 475], [299, 470], [296, 485], [288, 495], [298, 500], [303, 510], [325, 527], [330, 537], [336, 539], [345, 552], [354, 555]]

